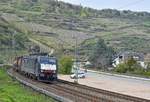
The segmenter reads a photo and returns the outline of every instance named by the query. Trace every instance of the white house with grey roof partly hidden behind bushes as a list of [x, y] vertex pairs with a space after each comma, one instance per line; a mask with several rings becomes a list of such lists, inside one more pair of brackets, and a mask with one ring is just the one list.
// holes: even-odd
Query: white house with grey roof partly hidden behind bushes
[[134, 60], [136, 60], [137, 63], [139, 63], [143, 68], [146, 68], [146, 65], [144, 63], [144, 54], [137, 53], [137, 52], [129, 52], [129, 51], [120, 52], [119, 54], [117, 54], [117, 56], [113, 60], [112, 65], [113, 65], [113, 67], [116, 67], [117, 65], [119, 65], [120, 63], [124, 63], [131, 57]]

